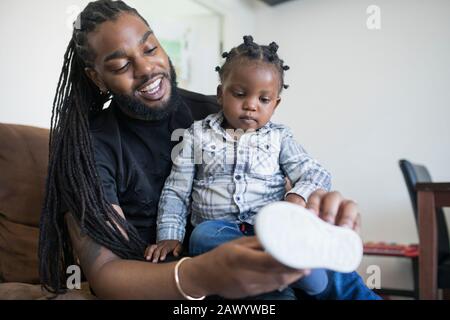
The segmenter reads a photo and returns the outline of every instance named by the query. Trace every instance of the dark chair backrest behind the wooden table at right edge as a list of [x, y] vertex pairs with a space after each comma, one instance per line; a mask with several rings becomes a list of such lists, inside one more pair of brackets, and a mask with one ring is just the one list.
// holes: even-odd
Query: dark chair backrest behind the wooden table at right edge
[[[423, 165], [411, 163], [408, 160], [402, 159], [399, 161], [400, 169], [405, 178], [406, 187], [408, 188], [409, 197], [414, 211], [414, 218], [416, 225], [418, 225], [417, 217], [417, 192], [416, 183], [418, 182], [432, 182], [431, 175], [427, 168]], [[438, 224], [438, 250], [439, 257], [448, 255], [450, 253], [450, 243], [448, 238], [447, 224], [445, 221], [444, 210], [438, 208], [436, 210], [437, 224]]]

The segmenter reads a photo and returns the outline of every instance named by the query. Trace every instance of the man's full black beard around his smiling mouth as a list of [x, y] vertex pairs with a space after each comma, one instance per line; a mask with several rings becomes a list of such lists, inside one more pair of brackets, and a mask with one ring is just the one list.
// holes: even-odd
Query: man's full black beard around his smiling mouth
[[[159, 121], [169, 117], [175, 111], [179, 104], [179, 96], [177, 92], [177, 75], [172, 61], [169, 59], [170, 76], [165, 75], [170, 81], [170, 97], [167, 102], [157, 107], [149, 107], [141, 100], [134, 96], [126, 94], [113, 94], [113, 99], [119, 105], [119, 108], [127, 115], [146, 121]], [[147, 77], [142, 81], [146, 83], [151, 77]]]

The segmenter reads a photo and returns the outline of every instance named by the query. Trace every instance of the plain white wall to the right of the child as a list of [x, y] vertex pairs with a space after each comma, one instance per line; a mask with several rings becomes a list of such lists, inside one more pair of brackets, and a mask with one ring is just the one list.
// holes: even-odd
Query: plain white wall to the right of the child
[[[381, 30], [366, 9], [381, 8]], [[276, 120], [291, 126], [359, 202], [366, 241], [418, 241], [398, 160], [450, 181], [450, 2], [297, 0], [256, 16], [256, 40], [277, 41], [291, 88]], [[408, 261], [379, 264], [382, 284], [411, 287]]]

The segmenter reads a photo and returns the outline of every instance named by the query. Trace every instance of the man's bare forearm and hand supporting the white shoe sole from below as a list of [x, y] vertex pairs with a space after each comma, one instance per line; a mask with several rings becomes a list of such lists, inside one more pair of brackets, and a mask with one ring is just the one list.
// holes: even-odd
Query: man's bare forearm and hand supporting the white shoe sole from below
[[[72, 214], [66, 222], [73, 248], [96, 295], [102, 299], [181, 299], [174, 280], [175, 263], [123, 260], [81, 235]], [[194, 297], [242, 298], [284, 287], [303, 276], [263, 252], [255, 237], [244, 237], [187, 260], [180, 285]]]

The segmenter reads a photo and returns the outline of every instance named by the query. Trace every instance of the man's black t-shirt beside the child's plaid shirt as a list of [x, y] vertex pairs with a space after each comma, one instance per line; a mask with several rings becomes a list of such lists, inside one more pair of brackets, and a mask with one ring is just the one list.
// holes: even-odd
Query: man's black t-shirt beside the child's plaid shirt
[[118, 106], [90, 119], [96, 167], [106, 199], [119, 205], [144, 241], [154, 243], [158, 202], [172, 168], [172, 132], [188, 128], [217, 112], [214, 97], [178, 89], [181, 103], [165, 120], [143, 121], [125, 115]]

